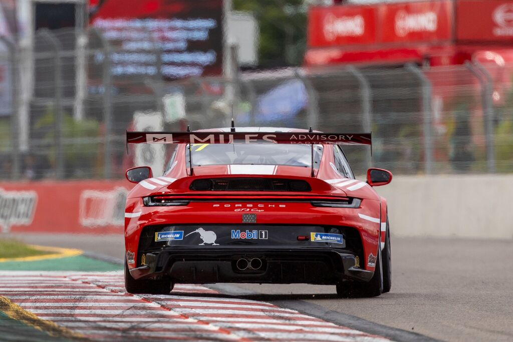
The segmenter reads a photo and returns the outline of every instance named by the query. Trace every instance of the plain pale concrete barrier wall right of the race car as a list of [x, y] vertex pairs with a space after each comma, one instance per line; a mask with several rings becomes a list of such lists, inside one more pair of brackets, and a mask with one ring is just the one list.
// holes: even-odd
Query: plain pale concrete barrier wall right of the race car
[[394, 176], [376, 191], [392, 235], [513, 238], [513, 175]]

